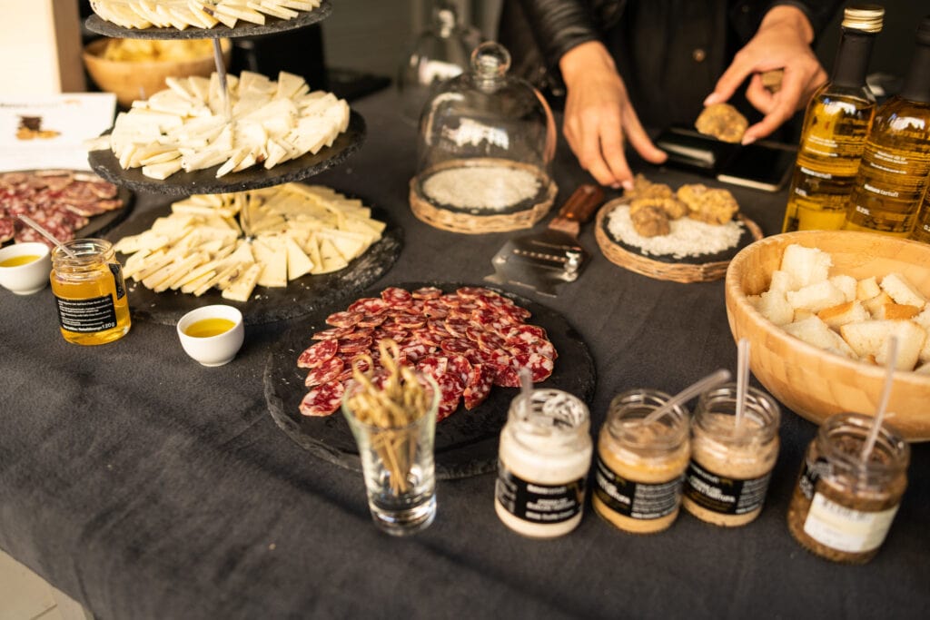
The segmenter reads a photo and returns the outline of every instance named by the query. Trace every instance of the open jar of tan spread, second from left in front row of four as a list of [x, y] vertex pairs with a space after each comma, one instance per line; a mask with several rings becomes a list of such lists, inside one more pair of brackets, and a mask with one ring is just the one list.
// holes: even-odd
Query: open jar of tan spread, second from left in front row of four
[[677, 405], [644, 423], [670, 398], [655, 389], [619, 394], [598, 436], [591, 505], [626, 532], [661, 532], [678, 517], [690, 455], [688, 411]]

